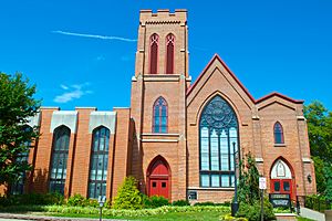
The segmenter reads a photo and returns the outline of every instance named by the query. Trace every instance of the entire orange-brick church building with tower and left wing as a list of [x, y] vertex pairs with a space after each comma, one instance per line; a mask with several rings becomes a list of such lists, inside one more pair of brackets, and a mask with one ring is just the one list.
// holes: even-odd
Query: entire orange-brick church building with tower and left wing
[[253, 98], [218, 55], [195, 82], [188, 65], [187, 11], [142, 10], [131, 107], [42, 107], [33, 172], [11, 191], [112, 199], [134, 176], [148, 196], [229, 201], [235, 156], [250, 151], [267, 192], [315, 193], [303, 101]]

